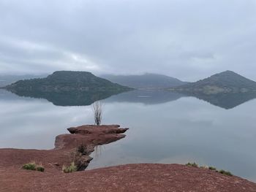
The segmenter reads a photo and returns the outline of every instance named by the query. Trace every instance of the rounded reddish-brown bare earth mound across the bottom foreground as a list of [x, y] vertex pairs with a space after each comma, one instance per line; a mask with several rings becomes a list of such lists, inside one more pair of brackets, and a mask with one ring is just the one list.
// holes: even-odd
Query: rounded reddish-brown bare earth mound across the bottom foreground
[[64, 174], [0, 169], [0, 191], [256, 191], [240, 177], [178, 164], [129, 164]]

